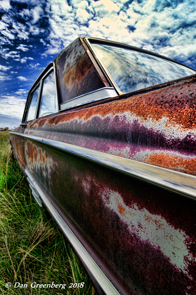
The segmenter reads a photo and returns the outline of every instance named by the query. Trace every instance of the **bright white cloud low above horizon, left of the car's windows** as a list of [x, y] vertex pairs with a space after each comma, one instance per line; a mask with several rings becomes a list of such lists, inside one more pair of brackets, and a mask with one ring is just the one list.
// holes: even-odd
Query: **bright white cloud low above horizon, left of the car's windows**
[[12, 118], [21, 119], [24, 112], [26, 100], [19, 99], [15, 95], [6, 95], [1, 97], [1, 114]]

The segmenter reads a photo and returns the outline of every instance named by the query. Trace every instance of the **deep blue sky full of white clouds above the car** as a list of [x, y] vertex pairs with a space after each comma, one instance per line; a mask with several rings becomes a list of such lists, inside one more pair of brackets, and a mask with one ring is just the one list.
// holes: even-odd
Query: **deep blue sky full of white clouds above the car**
[[1, 127], [21, 123], [43, 69], [79, 36], [126, 43], [196, 68], [196, 0], [0, 0]]

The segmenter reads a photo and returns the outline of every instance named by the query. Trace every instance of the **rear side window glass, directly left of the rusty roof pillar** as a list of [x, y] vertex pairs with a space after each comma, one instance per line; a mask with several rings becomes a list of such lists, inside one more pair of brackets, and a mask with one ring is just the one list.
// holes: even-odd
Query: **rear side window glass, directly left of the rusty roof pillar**
[[39, 116], [58, 112], [54, 72], [44, 79]]

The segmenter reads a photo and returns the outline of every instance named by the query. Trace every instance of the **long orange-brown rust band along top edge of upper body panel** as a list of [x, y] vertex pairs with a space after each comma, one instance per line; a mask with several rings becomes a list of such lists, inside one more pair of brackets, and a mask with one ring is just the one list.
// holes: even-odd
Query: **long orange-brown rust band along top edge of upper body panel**
[[[189, 81], [190, 83], [190, 81]], [[168, 117], [169, 122], [183, 125], [184, 128], [195, 128], [195, 77], [192, 78], [189, 88], [187, 82], [170, 86], [157, 91], [136, 95], [124, 100], [112, 101], [107, 104], [91, 106], [87, 109], [64, 113], [48, 119], [48, 124], [58, 124], [74, 118], [88, 120], [89, 118], [99, 115], [123, 114], [129, 112], [141, 117], [142, 120], [152, 118], [158, 121], [162, 117]], [[189, 89], [191, 87], [191, 92]], [[121, 96], [123, 97], [123, 96]]]

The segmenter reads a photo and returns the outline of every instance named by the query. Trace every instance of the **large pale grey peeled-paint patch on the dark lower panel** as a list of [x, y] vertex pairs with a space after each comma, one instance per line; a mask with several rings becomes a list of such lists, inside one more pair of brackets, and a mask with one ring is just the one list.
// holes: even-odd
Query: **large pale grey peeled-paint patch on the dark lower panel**
[[[105, 206], [120, 216], [132, 235], [136, 235], [142, 242], [149, 242], [153, 247], [160, 249], [164, 255], [169, 257], [174, 266], [187, 273], [184, 256], [188, 257], [189, 251], [185, 245], [187, 236], [183, 231], [174, 229], [159, 215], [151, 214], [146, 209], [139, 210], [136, 204], [128, 207], [118, 192], [104, 189], [99, 193]], [[172, 254], [173, 251], [175, 251], [175, 255]]]

